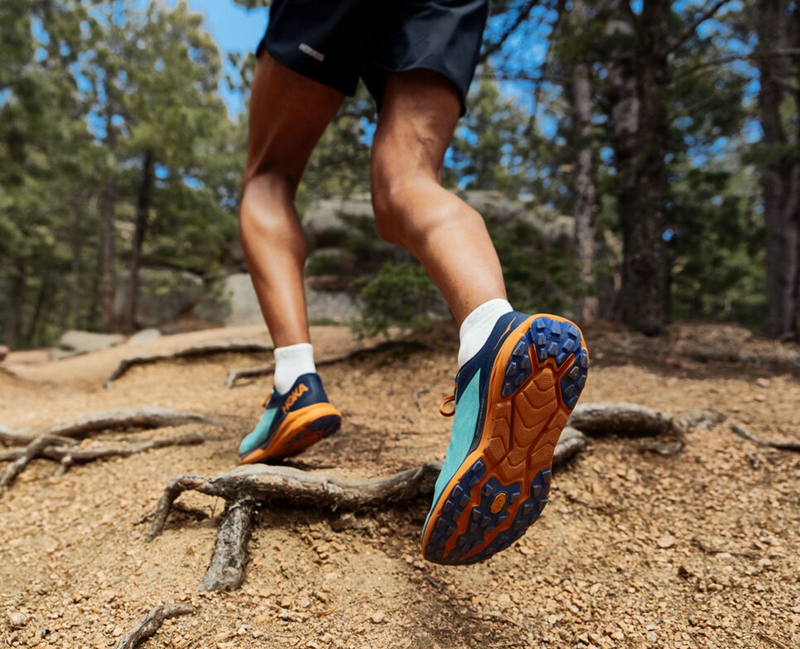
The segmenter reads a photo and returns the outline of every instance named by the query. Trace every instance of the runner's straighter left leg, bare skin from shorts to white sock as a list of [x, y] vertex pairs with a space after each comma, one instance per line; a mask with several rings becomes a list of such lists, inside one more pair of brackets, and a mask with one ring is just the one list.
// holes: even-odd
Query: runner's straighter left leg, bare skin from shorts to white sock
[[343, 98], [267, 52], [256, 63], [240, 226], [247, 267], [275, 347], [309, 342], [306, 244], [294, 197], [308, 158]]

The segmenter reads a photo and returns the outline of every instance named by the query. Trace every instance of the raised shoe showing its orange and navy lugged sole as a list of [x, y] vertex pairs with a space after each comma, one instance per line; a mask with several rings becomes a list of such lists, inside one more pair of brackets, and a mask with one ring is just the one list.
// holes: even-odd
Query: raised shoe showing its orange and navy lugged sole
[[588, 369], [581, 331], [568, 320], [516, 312], [498, 320], [456, 375], [454, 411], [442, 410], [455, 418], [422, 530], [426, 559], [483, 561], [536, 522]]

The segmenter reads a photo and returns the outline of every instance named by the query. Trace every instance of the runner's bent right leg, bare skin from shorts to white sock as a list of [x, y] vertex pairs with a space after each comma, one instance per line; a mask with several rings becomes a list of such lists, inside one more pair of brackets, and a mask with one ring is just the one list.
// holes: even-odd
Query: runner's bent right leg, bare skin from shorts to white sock
[[459, 325], [478, 306], [506, 298], [483, 218], [441, 186], [460, 111], [458, 91], [444, 76], [389, 73], [372, 150], [378, 232], [422, 263]]

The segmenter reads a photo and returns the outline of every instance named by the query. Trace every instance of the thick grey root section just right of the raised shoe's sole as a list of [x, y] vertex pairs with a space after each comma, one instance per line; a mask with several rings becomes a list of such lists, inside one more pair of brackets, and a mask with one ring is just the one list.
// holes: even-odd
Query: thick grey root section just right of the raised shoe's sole
[[579, 405], [569, 425], [589, 436], [655, 437], [678, 432], [668, 415], [624, 402]]

